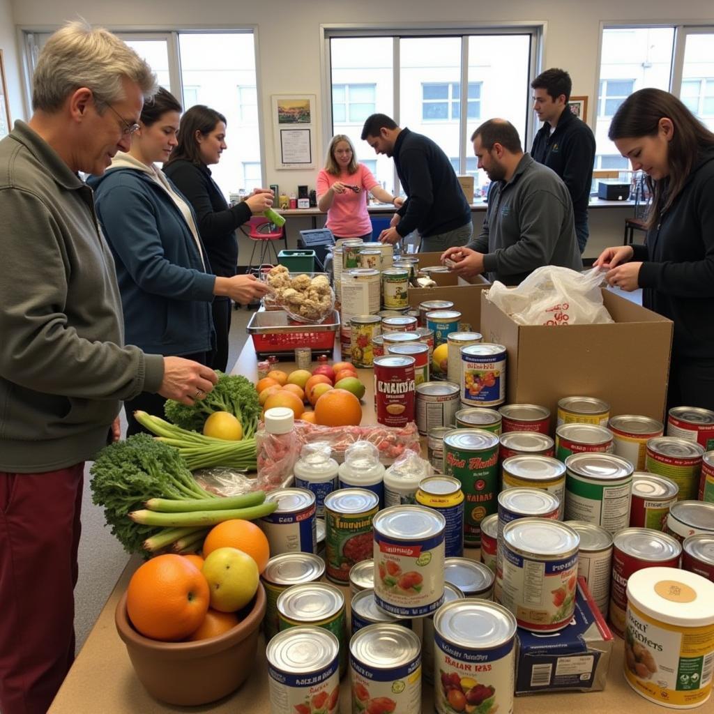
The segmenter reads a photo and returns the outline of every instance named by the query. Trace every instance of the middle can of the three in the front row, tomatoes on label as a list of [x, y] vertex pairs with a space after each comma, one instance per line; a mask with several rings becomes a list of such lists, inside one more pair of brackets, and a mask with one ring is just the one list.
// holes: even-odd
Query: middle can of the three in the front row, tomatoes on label
[[391, 623], [369, 625], [352, 635], [353, 712], [421, 712], [421, 642]]

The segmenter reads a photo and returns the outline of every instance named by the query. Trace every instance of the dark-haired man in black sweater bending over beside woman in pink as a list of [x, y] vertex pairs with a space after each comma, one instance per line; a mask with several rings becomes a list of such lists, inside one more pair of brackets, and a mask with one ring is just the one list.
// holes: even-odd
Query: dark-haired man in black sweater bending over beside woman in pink
[[386, 114], [367, 118], [362, 139], [376, 154], [393, 157], [407, 196], [379, 240], [393, 244], [418, 229], [421, 251], [466, 245], [473, 234], [471, 206], [439, 146], [426, 136], [400, 129]]

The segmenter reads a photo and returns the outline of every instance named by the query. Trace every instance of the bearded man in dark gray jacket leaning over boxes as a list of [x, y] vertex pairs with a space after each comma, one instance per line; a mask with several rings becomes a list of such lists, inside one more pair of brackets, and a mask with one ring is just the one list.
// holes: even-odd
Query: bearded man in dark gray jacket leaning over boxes
[[449, 248], [442, 261], [468, 278], [518, 285], [535, 268], [582, 270], [575, 240], [573, 202], [563, 181], [523, 154], [518, 131], [505, 119], [489, 119], [473, 132], [478, 168], [493, 181], [481, 233], [463, 248]]

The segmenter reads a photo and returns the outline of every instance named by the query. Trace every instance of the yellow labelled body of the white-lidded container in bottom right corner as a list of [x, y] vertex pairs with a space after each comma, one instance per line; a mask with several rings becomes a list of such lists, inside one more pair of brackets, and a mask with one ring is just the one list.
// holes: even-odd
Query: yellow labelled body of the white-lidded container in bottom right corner
[[[672, 585], [680, 593], [691, 590]], [[628, 604], [625, 679], [645, 699], [677, 708], [702, 704], [711, 693], [713, 667], [714, 625], [669, 625]]]

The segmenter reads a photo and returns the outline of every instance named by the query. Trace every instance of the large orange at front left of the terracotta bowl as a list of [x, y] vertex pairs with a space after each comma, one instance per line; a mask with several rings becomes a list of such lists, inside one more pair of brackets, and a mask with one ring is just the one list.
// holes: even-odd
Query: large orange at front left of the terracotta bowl
[[176, 642], [198, 629], [210, 597], [206, 578], [190, 560], [158, 555], [131, 576], [126, 611], [145, 637]]

